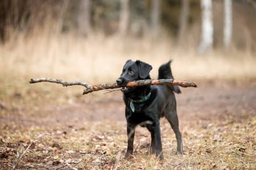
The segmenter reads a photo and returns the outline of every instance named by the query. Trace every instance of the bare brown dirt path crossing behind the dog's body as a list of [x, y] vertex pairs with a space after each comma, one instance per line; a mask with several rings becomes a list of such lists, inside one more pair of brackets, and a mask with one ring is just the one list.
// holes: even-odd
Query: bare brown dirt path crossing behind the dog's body
[[[89, 94], [90, 95], [90, 94]], [[24, 126], [80, 126], [83, 122], [121, 121], [125, 122], [124, 104], [121, 92], [113, 92], [92, 99], [85, 103], [61, 105], [47, 104], [27, 115], [26, 109], [18, 114], [2, 116], [0, 124], [20, 124]], [[182, 94], [176, 95], [177, 112], [180, 125], [199, 118], [201, 121], [214, 119], [225, 120], [229, 116], [248, 117], [256, 114], [256, 88], [254, 87], [199, 87], [183, 88]], [[30, 111], [31, 112], [31, 111]]]

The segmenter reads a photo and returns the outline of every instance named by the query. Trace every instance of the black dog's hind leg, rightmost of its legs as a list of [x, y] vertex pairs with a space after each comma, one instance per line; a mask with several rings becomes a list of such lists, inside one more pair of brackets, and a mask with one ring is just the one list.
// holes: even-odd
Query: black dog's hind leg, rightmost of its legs
[[177, 117], [177, 112], [169, 111], [164, 115], [166, 116], [168, 122], [170, 123], [172, 130], [174, 130], [176, 140], [177, 140], [177, 153], [183, 154], [182, 138], [179, 130], [179, 119]]

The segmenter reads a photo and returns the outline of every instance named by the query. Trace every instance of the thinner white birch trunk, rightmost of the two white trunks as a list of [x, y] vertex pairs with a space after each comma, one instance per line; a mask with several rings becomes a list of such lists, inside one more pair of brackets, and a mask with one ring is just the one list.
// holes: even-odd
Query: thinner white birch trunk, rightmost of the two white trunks
[[225, 48], [230, 45], [232, 39], [232, 0], [224, 0], [224, 29], [223, 43]]

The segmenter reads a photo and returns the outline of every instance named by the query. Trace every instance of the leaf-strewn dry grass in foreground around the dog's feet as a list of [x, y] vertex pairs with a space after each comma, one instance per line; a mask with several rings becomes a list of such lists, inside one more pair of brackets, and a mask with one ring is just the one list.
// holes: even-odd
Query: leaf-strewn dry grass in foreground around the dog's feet
[[105, 123], [85, 122], [86, 128], [65, 129], [2, 127], [0, 168], [14, 165], [16, 151], [21, 154], [28, 141], [45, 131], [51, 135], [42, 137], [28, 150], [19, 168], [56, 169], [65, 166], [66, 161], [73, 162], [71, 165], [79, 169], [254, 169], [256, 165], [256, 134], [255, 130], [251, 131], [256, 126], [256, 117], [244, 122], [212, 122], [207, 126], [187, 122], [183, 129], [185, 155], [174, 154], [175, 136], [167, 133], [170, 125], [163, 120], [164, 162], [147, 154], [150, 135], [142, 128], [137, 129], [134, 156], [124, 159], [125, 125], [122, 122]]

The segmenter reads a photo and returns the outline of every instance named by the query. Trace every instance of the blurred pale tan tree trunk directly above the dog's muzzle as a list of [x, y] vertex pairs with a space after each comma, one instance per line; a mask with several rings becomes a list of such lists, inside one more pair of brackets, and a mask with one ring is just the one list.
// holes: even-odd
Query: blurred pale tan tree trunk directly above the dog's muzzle
[[119, 33], [126, 35], [129, 24], [129, 0], [120, 1]]

